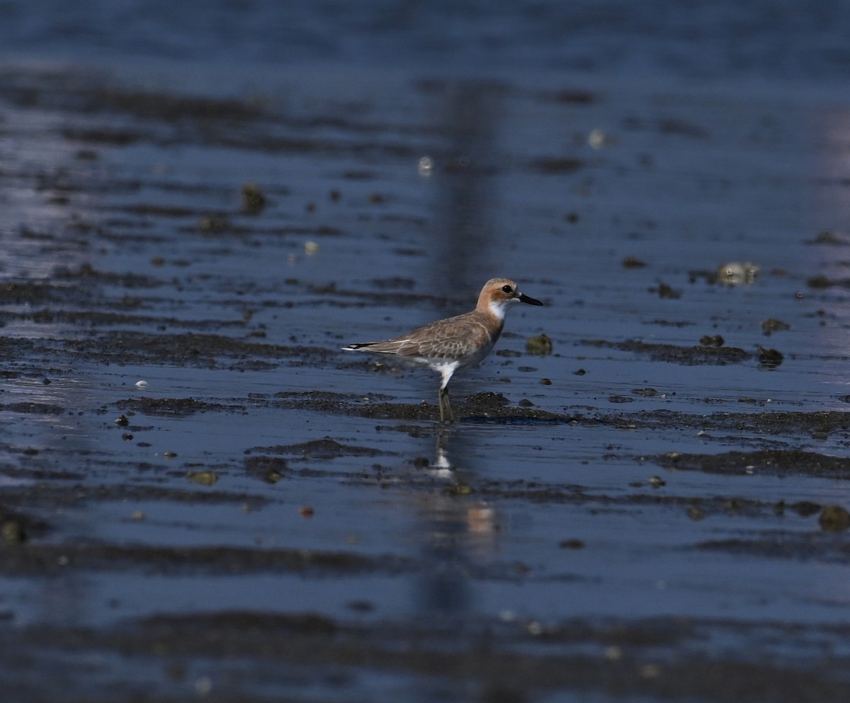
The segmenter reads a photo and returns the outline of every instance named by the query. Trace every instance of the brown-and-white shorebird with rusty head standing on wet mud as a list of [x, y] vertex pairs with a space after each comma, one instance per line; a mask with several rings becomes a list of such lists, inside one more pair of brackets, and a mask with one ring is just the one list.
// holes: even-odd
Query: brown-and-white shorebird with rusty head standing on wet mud
[[403, 363], [438, 371], [439, 419], [454, 422], [447, 386], [458, 368], [479, 363], [486, 357], [505, 325], [505, 312], [513, 303], [542, 305], [541, 301], [520, 293], [510, 278], [490, 278], [479, 295], [478, 305], [454, 318], [437, 320], [391, 340], [361, 342], [343, 346], [345, 351], [368, 351], [394, 357]]

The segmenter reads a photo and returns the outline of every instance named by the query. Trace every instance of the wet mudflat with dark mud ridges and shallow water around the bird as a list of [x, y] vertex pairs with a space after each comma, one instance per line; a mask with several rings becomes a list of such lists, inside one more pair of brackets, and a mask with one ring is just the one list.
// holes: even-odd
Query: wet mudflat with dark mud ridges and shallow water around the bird
[[223, 83], [0, 71], [4, 700], [847, 697], [840, 96]]

